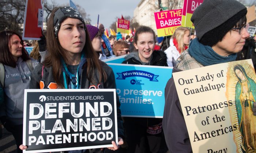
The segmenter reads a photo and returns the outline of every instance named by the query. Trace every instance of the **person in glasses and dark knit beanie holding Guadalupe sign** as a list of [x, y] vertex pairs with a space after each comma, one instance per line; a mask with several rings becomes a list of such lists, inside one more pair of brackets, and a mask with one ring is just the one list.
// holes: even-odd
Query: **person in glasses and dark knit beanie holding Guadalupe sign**
[[[177, 59], [173, 73], [235, 61], [249, 37], [246, 13], [246, 7], [236, 0], [204, 0], [191, 17], [197, 38]], [[165, 87], [162, 125], [170, 153], [192, 152], [173, 78]]]

